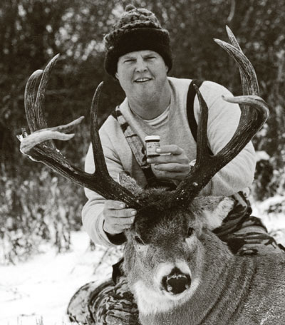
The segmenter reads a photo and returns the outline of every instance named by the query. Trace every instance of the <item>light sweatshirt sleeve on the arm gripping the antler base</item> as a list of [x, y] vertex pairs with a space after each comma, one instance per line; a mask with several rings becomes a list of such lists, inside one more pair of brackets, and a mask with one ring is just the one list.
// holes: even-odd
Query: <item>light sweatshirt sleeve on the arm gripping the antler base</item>
[[[110, 138], [108, 137], [108, 132], [104, 128], [100, 129], [100, 140], [110, 176], [114, 180], [117, 180], [120, 171], [123, 171], [123, 166], [120, 163], [118, 155], [115, 153]], [[86, 155], [85, 170], [89, 173], [93, 173], [95, 170], [92, 145], [89, 146]], [[83, 228], [89, 234], [90, 238], [95, 244], [101, 244], [105, 247], [115, 247], [116, 244], [122, 244], [122, 242], [110, 242], [108, 235], [103, 230], [103, 207], [105, 198], [87, 188], [85, 188], [85, 193], [88, 201], [82, 210], [82, 222]]]

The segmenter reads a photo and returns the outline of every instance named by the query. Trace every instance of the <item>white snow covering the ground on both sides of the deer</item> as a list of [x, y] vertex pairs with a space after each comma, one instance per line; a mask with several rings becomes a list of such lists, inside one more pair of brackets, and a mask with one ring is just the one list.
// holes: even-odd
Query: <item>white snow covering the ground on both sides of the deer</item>
[[[283, 200], [273, 197], [254, 205], [253, 215], [262, 217], [269, 232], [285, 246], [284, 205], [280, 207]], [[279, 212], [271, 212], [276, 207], [280, 207]], [[86, 232], [73, 232], [71, 238], [71, 252], [57, 254], [56, 249], [47, 246], [43, 254], [28, 262], [0, 265], [0, 325], [36, 325], [41, 324], [41, 317], [43, 325], [71, 324], [66, 317], [71, 296], [87, 282], [100, 283], [110, 277], [111, 265], [120, 253], [104, 255], [106, 251], [101, 247], [91, 252]], [[98, 266], [103, 255], [105, 262]]]

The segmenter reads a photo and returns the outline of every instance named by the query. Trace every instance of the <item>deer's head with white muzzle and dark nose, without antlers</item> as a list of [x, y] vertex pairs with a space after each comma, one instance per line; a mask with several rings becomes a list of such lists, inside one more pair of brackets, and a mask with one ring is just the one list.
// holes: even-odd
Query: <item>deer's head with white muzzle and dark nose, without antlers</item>
[[[147, 192], [161, 195], [160, 190]], [[185, 303], [204, 279], [205, 260], [232, 257], [211, 230], [222, 224], [233, 205], [227, 197], [195, 197], [188, 207], [151, 209], [136, 217], [126, 232], [123, 268], [140, 313], [156, 314]], [[206, 257], [209, 248], [212, 256]]]

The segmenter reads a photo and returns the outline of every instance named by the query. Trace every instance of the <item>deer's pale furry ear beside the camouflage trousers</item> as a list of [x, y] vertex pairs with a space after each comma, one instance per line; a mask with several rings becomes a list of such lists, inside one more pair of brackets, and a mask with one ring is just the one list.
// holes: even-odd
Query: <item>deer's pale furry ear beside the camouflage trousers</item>
[[222, 221], [234, 207], [232, 197], [196, 197], [191, 210], [202, 217], [203, 226], [209, 230], [216, 229], [222, 225]]

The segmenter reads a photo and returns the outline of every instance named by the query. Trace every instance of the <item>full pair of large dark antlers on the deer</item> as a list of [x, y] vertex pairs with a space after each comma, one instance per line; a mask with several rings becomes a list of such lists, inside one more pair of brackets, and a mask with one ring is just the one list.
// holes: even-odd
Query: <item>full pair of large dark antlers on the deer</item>
[[[25, 91], [25, 108], [28, 125], [31, 135], [23, 131], [19, 136], [21, 140], [21, 151], [36, 161], [43, 162], [48, 167], [56, 170], [59, 174], [75, 182], [78, 185], [87, 187], [90, 190], [98, 192], [106, 199], [121, 200], [137, 210], [156, 208], [163, 210], [170, 206], [188, 205], [200, 190], [207, 185], [209, 180], [227, 165], [238, 153], [249, 143], [252, 137], [257, 133], [266, 121], [269, 110], [259, 95], [257, 76], [252, 64], [244, 53], [242, 53], [236, 38], [232, 31], [227, 27], [227, 33], [232, 43], [225, 43], [214, 39], [230, 56], [232, 56], [239, 65], [239, 71], [242, 79], [242, 89], [244, 96], [224, 98], [230, 103], [239, 103], [242, 114], [236, 132], [229, 143], [216, 155], [209, 155], [207, 149], [207, 117], [208, 108], [204, 102], [199, 89], [195, 87], [199, 98], [201, 116], [197, 135], [197, 162], [191, 172], [180, 182], [177, 190], [167, 192], [166, 195], [155, 195], [155, 197], [135, 197], [133, 193], [120, 186], [110, 177], [103, 155], [102, 145], [98, 134], [97, 111], [100, 106], [100, 90], [103, 83], [100, 83], [95, 91], [91, 105], [91, 142], [93, 146], [93, 156], [95, 162], [94, 174], [88, 174], [69, 164], [66, 158], [56, 149], [52, 139], [69, 140], [74, 134], [66, 134], [81, 123], [83, 117], [73, 120], [67, 125], [61, 125], [56, 128], [46, 128], [46, 120], [43, 118], [43, 102], [45, 91], [51, 69], [55, 65], [58, 56], [55, 56], [44, 71], [35, 71], [28, 79]], [[36, 85], [41, 78], [38, 91]], [[47, 141], [48, 140], [48, 141]]]

